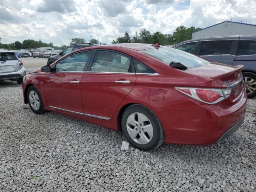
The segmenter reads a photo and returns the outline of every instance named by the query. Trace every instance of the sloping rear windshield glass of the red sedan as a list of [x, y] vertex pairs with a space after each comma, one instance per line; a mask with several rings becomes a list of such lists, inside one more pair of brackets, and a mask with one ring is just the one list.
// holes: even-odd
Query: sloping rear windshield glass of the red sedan
[[207, 65], [210, 63], [198, 56], [170, 47], [144, 49], [140, 52], [152, 56], [168, 65], [170, 65], [170, 62], [180, 62], [188, 69]]

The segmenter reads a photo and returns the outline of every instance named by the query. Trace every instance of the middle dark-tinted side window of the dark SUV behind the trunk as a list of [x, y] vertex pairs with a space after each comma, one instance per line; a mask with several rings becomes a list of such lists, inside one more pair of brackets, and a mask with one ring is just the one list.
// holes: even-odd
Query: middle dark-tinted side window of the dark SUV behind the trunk
[[231, 40], [203, 41], [199, 55], [231, 54]]

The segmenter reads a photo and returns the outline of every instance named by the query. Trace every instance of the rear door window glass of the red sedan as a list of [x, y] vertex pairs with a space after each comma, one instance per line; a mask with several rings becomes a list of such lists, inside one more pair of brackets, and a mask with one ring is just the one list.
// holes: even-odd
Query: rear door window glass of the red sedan
[[92, 72], [131, 72], [130, 58], [111, 51], [97, 51], [92, 62]]

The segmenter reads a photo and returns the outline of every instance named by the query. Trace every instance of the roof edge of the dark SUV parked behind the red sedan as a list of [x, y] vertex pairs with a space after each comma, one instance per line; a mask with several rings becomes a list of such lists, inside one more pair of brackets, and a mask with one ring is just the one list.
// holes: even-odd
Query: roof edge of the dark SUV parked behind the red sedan
[[252, 39], [256, 40], [256, 35], [230, 35], [230, 36], [215, 36], [215, 37], [204, 37], [204, 38], [198, 38], [198, 39], [190, 39], [183, 42], [180, 42], [173, 47], [182, 45], [184, 43], [188, 42], [195, 42], [195, 41], [204, 41], [204, 40], [242, 40], [242, 39]]

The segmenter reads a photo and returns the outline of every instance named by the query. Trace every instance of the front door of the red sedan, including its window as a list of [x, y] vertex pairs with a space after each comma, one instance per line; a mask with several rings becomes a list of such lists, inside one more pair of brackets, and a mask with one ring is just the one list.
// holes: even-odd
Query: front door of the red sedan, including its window
[[54, 64], [44, 79], [44, 92], [51, 108], [83, 114], [81, 81], [92, 50], [76, 52]]

